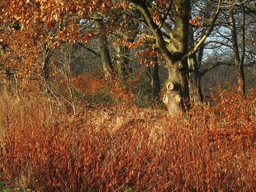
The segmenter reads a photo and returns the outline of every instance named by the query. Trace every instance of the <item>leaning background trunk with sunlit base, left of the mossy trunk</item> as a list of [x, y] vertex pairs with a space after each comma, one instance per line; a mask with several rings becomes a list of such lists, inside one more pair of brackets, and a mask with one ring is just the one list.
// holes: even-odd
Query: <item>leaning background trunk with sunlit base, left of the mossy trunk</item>
[[[96, 25], [98, 29], [104, 29], [104, 23], [102, 19], [97, 19]], [[110, 52], [108, 50], [108, 38], [105, 34], [99, 35], [99, 49], [100, 58], [102, 60], [103, 72], [105, 75], [105, 79], [110, 80], [113, 77], [113, 65], [111, 62]]]

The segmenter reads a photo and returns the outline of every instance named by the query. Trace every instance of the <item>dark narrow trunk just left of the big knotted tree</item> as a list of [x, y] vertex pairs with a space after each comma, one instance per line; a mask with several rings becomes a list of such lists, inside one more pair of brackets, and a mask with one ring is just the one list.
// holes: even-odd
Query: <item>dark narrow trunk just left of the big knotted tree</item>
[[159, 99], [160, 93], [160, 80], [159, 80], [159, 72], [158, 72], [158, 64], [157, 57], [152, 58], [154, 61], [154, 66], [148, 66], [148, 74], [149, 80], [151, 84], [151, 96], [153, 101], [157, 101]]

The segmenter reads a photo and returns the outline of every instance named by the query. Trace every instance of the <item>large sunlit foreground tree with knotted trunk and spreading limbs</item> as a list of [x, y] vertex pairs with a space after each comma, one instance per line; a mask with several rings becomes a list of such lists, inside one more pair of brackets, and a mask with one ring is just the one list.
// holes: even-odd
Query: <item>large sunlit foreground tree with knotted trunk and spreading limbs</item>
[[[188, 50], [189, 1], [170, 1], [170, 4], [167, 4], [166, 1], [154, 3], [132, 0], [132, 3], [140, 10], [148, 28], [154, 35], [157, 43], [153, 48], [158, 50], [166, 61], [169, 77], [166, 82], [167, 93], [163, 101], [170, 114], [175, 115], [178, 111], [185, 110], [189, 102], [187, 58], [195, 54], [208, 35], [211, 34], [222, 1], [219, 1], [217, 5], [217, 12], [214, 14], [208, 31], [190, 51]], [[170, 11], [172, 11], [171, 14]], [[169, 20], [173, 21], [174, 28], [171, 28], [170, 22], [167, 22], [168, 17]], [[163, 31], [167, 34], [167, 39]]]

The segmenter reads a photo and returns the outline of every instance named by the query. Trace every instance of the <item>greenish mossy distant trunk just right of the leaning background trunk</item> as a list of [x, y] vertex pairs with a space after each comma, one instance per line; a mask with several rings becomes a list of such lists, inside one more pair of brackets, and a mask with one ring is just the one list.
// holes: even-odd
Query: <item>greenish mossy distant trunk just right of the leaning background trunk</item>
[[127, 47], [119, 45], [116, 47], [117, 52], [117, 72], [119, 77], [123, 80], [127, 78], [127, 75], [132, 72], [132, 66], [129, 64], [129, 49]]

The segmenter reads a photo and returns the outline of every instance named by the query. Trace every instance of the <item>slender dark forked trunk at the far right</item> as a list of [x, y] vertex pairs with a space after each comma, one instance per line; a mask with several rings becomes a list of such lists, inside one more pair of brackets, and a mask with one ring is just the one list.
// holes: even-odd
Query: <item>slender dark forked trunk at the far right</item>
[[[232, 4], [232, 1], [230, 1], [230, 4]], [[241, 57], [239, 55], [239, 49], [238, 49], [238, 38], [237, 38], [237, 32], [236, 32], [236, 21], [234, 19], [233, 15], [233, 9], [230, 9], [229, 11], [229, 17], [230, 17], [230, 31], [232, 34], [232, 42], [233, 42], [233, 51], [234, 51], [234, 62], [236, 65], [236, 73], [238, 78], [238, 91], [245, 95], [245, 79], [244, 79], [244, 55], [245, 55], [245, 34], [244, 34], [244, 23], [245, 23], [245, 12], [244, 12], [244, 3], [241, 1]]]

